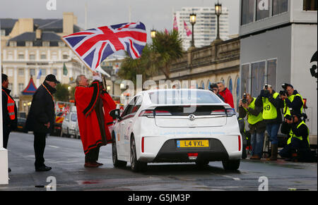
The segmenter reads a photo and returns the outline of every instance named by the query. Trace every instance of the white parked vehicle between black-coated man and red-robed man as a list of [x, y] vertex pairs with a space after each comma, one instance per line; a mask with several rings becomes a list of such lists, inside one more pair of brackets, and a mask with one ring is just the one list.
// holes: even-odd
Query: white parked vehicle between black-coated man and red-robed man
[[73, 106], [71, 111], [65, 116], [63, 120], [63, 123], [61, 125], [61, 136], [76, 137], [76, 126], [78, 126], [77, 113], [76, 107]]

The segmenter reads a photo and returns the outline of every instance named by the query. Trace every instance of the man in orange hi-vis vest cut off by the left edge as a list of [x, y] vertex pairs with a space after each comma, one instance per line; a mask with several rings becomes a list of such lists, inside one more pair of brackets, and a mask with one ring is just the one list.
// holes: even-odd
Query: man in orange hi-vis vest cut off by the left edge
[[[11, 90], [8, 89], [8, 76], [4, 73], [1, 74], [1, 89], [2, 89], [2, 119], [3, 119], [3, 136], [4, 136], [4, 148], [8, 147], [8, 137], [12, 130], [16, 130], [17, 126], [17, 108], [16, 102], [11, 97]], [[8, 168], [11, 171], [11, 168]]]

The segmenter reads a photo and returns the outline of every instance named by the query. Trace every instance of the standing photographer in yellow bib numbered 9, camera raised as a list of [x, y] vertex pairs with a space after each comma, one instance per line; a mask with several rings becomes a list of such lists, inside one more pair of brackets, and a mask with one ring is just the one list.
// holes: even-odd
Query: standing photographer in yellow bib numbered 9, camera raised
[[281, 108], [283, 101], [279, 98], [279, 94], [272, 89], [271, 85], [264, 85], [255, 104], [263, 108], [263, 119], [266, 123], [266, 131], [271, 141], [271, 157], [267, 160], [276, 161], [278, 152], [278, 130], [281, 125]]

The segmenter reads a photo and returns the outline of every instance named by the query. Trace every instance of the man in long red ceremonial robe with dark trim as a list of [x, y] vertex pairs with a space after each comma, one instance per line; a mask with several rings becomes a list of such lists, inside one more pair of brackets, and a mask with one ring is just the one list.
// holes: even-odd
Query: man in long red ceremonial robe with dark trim
[[91, 168], [102, 165], [97, 162], [100, 147], [112, 143], [108, 127], [113, 120], [109, 113], [116, 108], [110, 94], [102, 89], [98, 73], [93, 73], [93, 80], [89, 85], [85, 75], [78, 75], [75, 89], [78, 128], [85, 153], [84, 166]]

